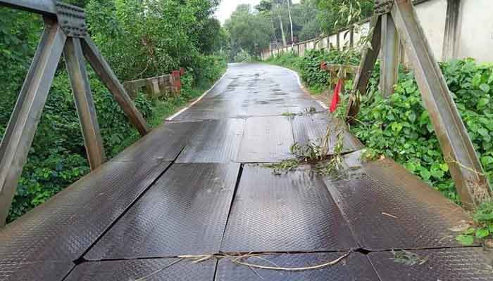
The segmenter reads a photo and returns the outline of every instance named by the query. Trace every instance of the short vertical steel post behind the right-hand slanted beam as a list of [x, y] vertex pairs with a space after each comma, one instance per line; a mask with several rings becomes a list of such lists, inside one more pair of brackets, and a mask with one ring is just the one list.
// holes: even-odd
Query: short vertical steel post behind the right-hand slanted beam
[[382, 15], [382, 63], [380, 65], [380, 92], [384, 97], [394, 93], [399, 78], [400, 42], [392, 16]]

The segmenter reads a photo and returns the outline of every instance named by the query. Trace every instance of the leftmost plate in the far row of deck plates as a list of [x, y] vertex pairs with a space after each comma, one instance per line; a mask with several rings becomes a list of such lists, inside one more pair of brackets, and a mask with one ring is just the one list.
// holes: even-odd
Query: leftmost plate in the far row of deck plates
[[201, 122], [166, 122], [117, 155], [114, 161], [173, 161]]

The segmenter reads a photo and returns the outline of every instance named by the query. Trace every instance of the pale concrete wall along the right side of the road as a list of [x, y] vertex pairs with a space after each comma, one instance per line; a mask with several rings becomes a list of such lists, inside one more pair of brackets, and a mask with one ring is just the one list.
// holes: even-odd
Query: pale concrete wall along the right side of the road
[[[446, 22], [447, 22], [447, 1], [451, 0], [420, 0], [416, 4], [418, 19], [425, 31], [426, 37], [430, 42], [433, 53], [437, 60], [442, 60]], [[455, 0], [454, 0], [455, 1]], [[460, 11], [456, 30], [456, 42], [453, 44], [454, 55], [452, 58], [475, 58], [480, 62], [493, 63], [493, 0], [460, 0]], [[361, 36], [368, 34], [369, 20], [360, 23], [361, 28], [354, 32], [354, 42]], [[300, 43], [299, 55], [304, 55], [305, 51], [315, 47], [314, 41], [321, 40], [325, 46], [337, 47], [337, 34], [339, 34], [339, 47], [344, 47], [349, 41], [348, 30], [339, 30], [336, 34], [330, 34], [322, 39]], [[346, 36], [344, 36], [346, 34]], [[325, 43], [327, 42], [327, 43]], [[325, 45], [325, 46], [324, 46]], [[317, 49], [320, 43], [317, 44]], [[297, 50], [297, 46], [294, 46]], [[269, 58], [271, 50], [262, 52], [262, 58]], [[297, 52], [295, 52], [297, 53]]]

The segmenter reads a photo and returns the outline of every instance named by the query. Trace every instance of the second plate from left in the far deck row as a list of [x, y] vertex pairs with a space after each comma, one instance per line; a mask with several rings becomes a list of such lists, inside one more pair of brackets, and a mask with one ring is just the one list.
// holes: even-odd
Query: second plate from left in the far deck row
[[208, 120], [194, 133], [177, 163], [235, 162], [242, 141], [244, 119]]

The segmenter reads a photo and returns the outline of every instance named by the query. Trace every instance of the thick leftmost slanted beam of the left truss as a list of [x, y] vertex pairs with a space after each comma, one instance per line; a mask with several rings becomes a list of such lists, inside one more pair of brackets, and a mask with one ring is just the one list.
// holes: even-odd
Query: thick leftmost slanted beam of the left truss
[[4, 225], [11, 207], [66, 40], [56, 22], [45, 20], [45, 24], [35, 58], [0, 145], [0, 226]]

